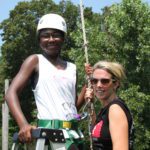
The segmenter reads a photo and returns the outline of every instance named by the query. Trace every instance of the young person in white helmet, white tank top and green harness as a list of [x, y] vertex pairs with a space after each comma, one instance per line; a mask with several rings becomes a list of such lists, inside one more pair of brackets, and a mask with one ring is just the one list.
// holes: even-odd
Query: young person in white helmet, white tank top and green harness
[[37, 26], [42, 54], [26, 58], [6, 93], [5, 99], [20, 128], [18, 135], [21, 142], [31, 142], [31, 130], [36, 128], [26, 120], [19, 98], [19, 93], [32, 78], [38, 110], [37, 126], [63, 129], [67, 134], [65, 148], [83, 149], [83, 135], [78, 132], [75, 121], [77, 108], [81, 107], [83, 101], [82, 96], [77, 99], [76, 95], [76, 65], [60, 56], [66, 33], [67, 26], [62, 16], [42, 16]]

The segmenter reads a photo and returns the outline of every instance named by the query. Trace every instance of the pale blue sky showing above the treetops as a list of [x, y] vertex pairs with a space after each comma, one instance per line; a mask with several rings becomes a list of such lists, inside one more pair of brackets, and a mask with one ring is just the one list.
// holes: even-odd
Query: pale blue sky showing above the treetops
[[[0, 22], [4, 19], [9, 18], [10, 10], [13, 10], [18, 2], [21, 1], [29, 1], [29, 0], [1, 0], [0, 4]], [[59, 3], [60, 0], [53, 0], [56, 3]], [[71, 0], [74, 4], [80, 4], [80, 0]], [[110, 6], [114, 3], [119, 3], [122, 0], [82, 0], [83, 4], [87, 7], [92, 7], [94, 12], [101, 12], [101, 9], [105, 6]], [[143, 0], [143, 2], [148, 2], [150, 4], [150, 0]], [[1, 33], [1, 31], [0, 31]], [[2, 45], [2, 40], [0, 36], [0, 46]]]

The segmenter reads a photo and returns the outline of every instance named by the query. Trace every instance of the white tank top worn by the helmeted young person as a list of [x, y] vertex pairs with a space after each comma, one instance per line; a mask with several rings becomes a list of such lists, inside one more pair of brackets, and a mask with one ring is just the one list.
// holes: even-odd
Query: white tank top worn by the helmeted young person
[[38, 119], [73, 119], [77, 114], [76, 66], [67, 62], [66, 69], [59, 70], [43, 55], [38, 59], [39, 79], [33, 90]]

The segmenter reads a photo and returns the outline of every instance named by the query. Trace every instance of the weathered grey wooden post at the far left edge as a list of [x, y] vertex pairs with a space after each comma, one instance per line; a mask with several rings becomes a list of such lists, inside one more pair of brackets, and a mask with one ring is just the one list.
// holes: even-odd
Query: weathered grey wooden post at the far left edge
[[[5, 93], [9, 87], [9, 80], [5, 80]], [[7, 103], [2, 104], [2, 150], [8, 150], [8, 121], [9, 110]]]

